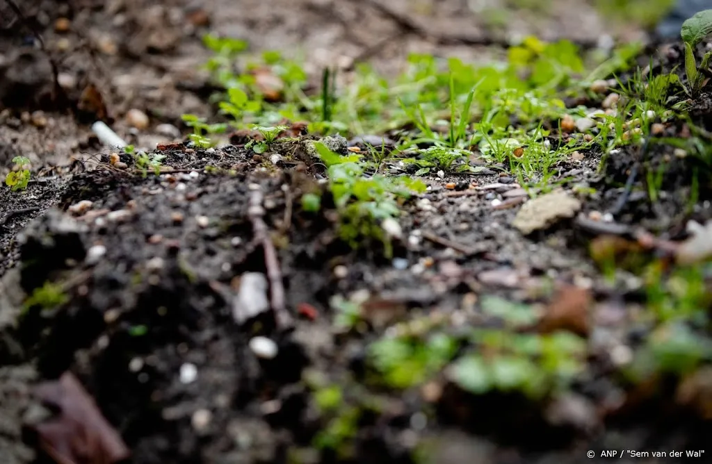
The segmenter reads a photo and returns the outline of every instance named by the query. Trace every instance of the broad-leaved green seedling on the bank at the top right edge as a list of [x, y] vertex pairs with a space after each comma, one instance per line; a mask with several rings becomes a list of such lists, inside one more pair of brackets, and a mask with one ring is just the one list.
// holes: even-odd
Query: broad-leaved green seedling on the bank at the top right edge
[[691, 97], [699, 95], [709, 80], [712, 51], [705, 53], [698, 67], [695, 47], [710, 33], [712, 33], [712, 9], [700, 11], [682, 24], [680, 36], [685, 43], [685, 73], [688, 81], [686, 91]]

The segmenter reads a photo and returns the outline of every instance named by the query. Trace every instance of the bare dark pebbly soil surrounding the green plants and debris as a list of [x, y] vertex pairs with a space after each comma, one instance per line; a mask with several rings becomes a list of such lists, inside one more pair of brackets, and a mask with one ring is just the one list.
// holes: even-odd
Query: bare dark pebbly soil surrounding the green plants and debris
[[[324, 187], [300, 144], [279, 147], [295, 162], [274, 164], [240, 144], [205, 150], [176, 142], [157, 151], [165, 155], [164, 171], [155, 175], [140, 172], [127, 154], [120, 162], [128, 169], [117, 168], [90, 131], [93, 120], [104, 119], [137, 147], [153, 149], [181, 139], [159, 133], [165, 132], [159, 124], [184, 130], [180, 115], [210, 115], [212, 88], [199, 70], [208, 57], [200, 44], [206, 31], [248, 38], [255, 50], [297, 53], [290, 44], [300, 43], [313, 51], [313, 70], [363, 58], [392, 72], [413, 50], [472, 59], [481, 48], [468, 42], [486, 42], [486, 33], [464, 18], [452, 27], [463, 16], [460, 2], [435, 10], [434, 1], [418, 8], [376, 0], [30, 2], [22, 6], [25, 22], [59, 63], [62, 90], [53, 88], [47, 53], [33, 46], [31, 30], [13, 22], [19, 19], [7, 19], [12, 12], [1, 2], [0, 165], [20, 154], [33, 165], [26, 191], [0, 189], [3, 463], [46, 459], [26, 427], [39, 407], [31, 387], [66, 371], [120, 433], [132, 453], [128, 462], [137, 464], [411, 463], [422, 443], [433, 463], [583, 463], [597, 461], [585, 457], [587, 450], [705, 449], [710, 422], [700, 408], [679, 404], [674, 382], [625, 386], [609, 365], [614, 347], [641, 337], [642, 288], [635, 278], [609, 283], [588, 248], [596, 236], [631, 239], [639, 228], [680, 240], [687, 221], [712, 218], [709, 179], [686, 209], [696, 164], [671, 156], [669, 147], [646, 153], [653, 166], [669, 164], [655, 204], [632, 194], [614, 223], [596, 227], [575, 216], [529, 236], [511, 225], [517, 201], [511, 208], [493, 204], [517, 198], [507, 194], [518, 189], [515, 179], [433, 175], [426, 194], [403, 204], [403, 239], [387, 260], [377, 246], [351, 251], [338, 240], [328, 199], [320, 213], [301, 209], [301, 194]], [[592, 21], [590, 28], [563, 30], [565, 36], [591, 41], [604, 32], [597, 16], [561, 3], [555, 11], [565, 17], [550, 21], [576, 24], [570, 14]], [[389, 11], [407, 20], [398, 23]], [[59, 17], [70, 19], [68, 31], [56, 31]], [[511, 27], [551, 30], [537, 22], [520, 19]], [[455, 29], [459, 36], [447, 35]], [[583, 33], [590, 36], [577, 35]], [[387, 46], [379, 47], [386, 37]], [[679, 64], [680, 53], [673, 56], [668, 51], [656, 60], [670, 69]], [[130, 108], [149, 115], [147, 130], [129, 127]], [[693, 117], [708, 122], [709, 95], [694, 108]], [[599, 173], [601, 156], [562, 162], [553, 179], [596, 189], [582, 206], [584, 218], [615, 209], [642, 155], [624, 149]], [[634, 185], [643, 187], [644, 179], [640, 174]], [[448, 181], [457, 188], [445, 189]], [[256, 233], [256, 196], [275, 243], [276, 280], [293, 318], [288, 327], [269, 311], [242, 324], [234, 317], [246, 273], [273, 272]], [[335, 272], [340, 265], [345, 275]], [[27, 295], [47, 281], [60, 283], [68, 297], [61, 309], [23, 310]], [[388, 323], [446, 321], [456, 333], [481, 323], [477, 295], [545, 306], [557, 298], [552, 282], [585, 288], [592, 300], [592, 322], [585, 324], [592, 359], [575, 393], [533, 404], [514, 394], [473, 396], [444, 377], [429, 384], [435, 395], [365, 387], [365, 347]], [[333, 323], [330, 297], [354, 292], [371, 309], [365, 327], [345, 332]], [[273, 339], [276, 356], [258, 357], [250, 344], [256, 336]], [[325, 416], [306, 378], [340, 383], [349, 395], [379, 404], [362, 416], [350, 460], [313, 447]], [[413, 426], [422, 413], [426, 423]], [[633, 461], [660, 462], [621, 460]]]

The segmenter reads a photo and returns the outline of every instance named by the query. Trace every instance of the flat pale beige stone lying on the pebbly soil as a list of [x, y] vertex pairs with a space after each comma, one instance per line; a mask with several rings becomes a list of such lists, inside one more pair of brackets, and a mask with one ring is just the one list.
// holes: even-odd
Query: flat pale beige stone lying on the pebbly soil
[[528, 235], [548, 228], [562, 218], [572, 218], [581, 202], [565, 191], [557, 190], [527, 201], [515, 216], [512, 226]]

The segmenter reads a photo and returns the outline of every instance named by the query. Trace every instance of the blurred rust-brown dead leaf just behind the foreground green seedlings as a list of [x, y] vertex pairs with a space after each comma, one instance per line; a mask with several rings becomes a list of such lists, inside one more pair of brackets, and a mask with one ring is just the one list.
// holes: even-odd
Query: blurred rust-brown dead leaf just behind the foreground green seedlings
[[586, 336], [589, 331], [588, 310], [591, 302], [591, 294], [585, 288], [562, 286], [539, 321], [540, 332], [568, 330]]

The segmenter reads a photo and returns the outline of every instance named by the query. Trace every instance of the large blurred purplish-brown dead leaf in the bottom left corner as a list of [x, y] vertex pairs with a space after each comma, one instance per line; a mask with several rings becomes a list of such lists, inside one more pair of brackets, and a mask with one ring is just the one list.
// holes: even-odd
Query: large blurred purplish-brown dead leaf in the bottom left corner
[[59, 413], [34, 426], [45, 452], [59, 464], [112, 464], [129, 457], [121, 436], [71, 372], [40, 384], [36, 396]]

